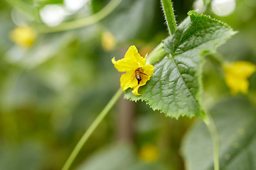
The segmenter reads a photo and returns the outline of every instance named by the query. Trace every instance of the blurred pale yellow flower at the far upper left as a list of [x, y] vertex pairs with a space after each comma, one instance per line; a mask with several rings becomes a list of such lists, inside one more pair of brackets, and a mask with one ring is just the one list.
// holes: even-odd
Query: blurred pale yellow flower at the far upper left
[[17, 27], [10, 33], [10, 38], [21, 47], [31, 47], [36, 40], [36, 31], [28, 26]]

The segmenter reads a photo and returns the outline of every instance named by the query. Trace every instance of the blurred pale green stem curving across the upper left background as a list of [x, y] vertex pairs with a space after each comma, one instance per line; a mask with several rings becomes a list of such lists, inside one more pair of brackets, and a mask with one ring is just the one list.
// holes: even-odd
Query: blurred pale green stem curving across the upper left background
[[109, 15], [112, 11], [114, 11], [114, 8], [116, 8], [121, 3], [121, 1], [122, 0], [112, 0], [99, 12], [93, 14], [92, 16], [88, 16], [87, 18], [82, 18], [66, 23], [60, 23], [60, 25], [55, 27], [36, 26], [36, 30], [39, 30], [40, 33], [53, 33], [63, 30], [73, 30], [76, 28], [82, 28], [85, 26], [92, 25], [93, 23], [97, 23], [98, 21], [102, 20], [107, 15]]

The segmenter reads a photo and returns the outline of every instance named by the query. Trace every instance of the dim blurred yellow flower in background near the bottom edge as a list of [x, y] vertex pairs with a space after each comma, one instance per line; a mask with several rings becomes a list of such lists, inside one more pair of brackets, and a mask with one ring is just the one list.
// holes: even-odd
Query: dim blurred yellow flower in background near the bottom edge
[[155, 162], [159, 159], [159, 150], [155, 145], [144, 145], [139, 150], [139, 158], [144, 162]]

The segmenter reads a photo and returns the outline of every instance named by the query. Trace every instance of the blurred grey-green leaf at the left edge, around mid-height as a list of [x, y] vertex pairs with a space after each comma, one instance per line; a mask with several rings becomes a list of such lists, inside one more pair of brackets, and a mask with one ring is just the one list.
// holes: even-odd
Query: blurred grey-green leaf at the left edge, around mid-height
[[4, 86], [6, 89], [1, 97], [4, 98], [4, 105], [11, 108], [29, 105], [49, 109], [49, 101], [55, 95], [55, 91], [50, 89], [42, 79], [28, 72], [17, 75], [15, 79], [9, 77], [5, 80]]

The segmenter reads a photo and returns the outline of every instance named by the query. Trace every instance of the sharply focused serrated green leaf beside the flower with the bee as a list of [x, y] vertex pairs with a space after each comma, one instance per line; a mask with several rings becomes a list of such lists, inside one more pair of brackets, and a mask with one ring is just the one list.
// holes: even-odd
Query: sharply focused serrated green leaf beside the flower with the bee
[[129, 90], [124, 97], [146, 101], [153, 110], [166, 116], [204, 118], [200, 103], [201, 56], [213, 52], [216, 45], [235, 32], [209, 16], [195, 11], [188, 15], [174, 35], [164, 40], [164, 49], [170, 54], [155, 65], [154, 75], [139, 89], [141, 96], [134, 96]]

